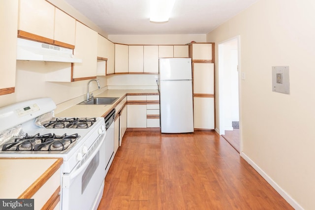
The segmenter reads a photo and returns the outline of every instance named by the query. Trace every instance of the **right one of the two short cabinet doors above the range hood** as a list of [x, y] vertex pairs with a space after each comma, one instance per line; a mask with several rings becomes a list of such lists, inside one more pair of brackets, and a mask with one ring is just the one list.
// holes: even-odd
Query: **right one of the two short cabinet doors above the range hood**
[[55, 42], [75, 44], [75, 19], [58, 8], [55, 8]]

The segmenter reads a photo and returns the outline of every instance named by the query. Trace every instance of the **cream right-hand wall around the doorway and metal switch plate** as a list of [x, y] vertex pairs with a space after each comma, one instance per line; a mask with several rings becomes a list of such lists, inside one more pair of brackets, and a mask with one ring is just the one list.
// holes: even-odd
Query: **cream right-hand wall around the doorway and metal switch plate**
[[[314, 11], [314, 0], [259, 0], [207, 34], [215, 43], [240, 35], [242, 156], [308, 210], [315, 208]], [[278, 65], [290, 68], [289, 95], [272, 91]]]

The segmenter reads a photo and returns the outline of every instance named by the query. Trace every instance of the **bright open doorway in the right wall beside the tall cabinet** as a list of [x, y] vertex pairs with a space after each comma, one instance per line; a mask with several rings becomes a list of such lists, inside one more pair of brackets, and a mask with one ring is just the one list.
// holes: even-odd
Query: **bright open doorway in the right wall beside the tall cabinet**
[[219, 134], [238, 152], [240, 138], [240, 36], [219, 43]]

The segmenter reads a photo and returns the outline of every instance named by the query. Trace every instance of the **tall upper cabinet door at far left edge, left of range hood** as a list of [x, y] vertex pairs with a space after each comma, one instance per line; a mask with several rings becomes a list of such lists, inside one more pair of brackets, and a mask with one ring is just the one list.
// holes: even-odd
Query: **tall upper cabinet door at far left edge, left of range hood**
[[15, 90], [18, 0], [2, 0], [0, 13], [0, 95], [4, 95]]

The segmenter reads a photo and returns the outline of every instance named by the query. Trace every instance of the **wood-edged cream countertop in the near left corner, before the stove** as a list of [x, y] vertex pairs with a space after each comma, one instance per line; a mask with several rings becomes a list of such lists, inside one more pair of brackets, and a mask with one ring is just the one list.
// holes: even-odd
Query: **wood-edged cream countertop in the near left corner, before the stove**
[[62, 158], [0, 158], [0, 198], [25, 198], [62, 164]]

